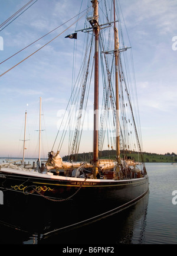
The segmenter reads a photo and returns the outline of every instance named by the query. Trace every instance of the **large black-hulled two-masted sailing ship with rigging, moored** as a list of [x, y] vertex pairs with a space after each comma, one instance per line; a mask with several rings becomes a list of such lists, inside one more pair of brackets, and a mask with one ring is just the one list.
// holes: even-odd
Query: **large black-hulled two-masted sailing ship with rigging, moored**
[[[106, 4], [104, 13], [103, 4]], [[117, 1], [110, 1], [110, 5], [107, 1], [102, 1], [99, 8], [99, 2], [92, 0], [87, 7], [85, 27], [76, 30], [72, 36], [67, 36], [75, 40], [77, 33], [86, 35], [82, 72], [78, 72], [71, 91], [67, 105], [68, 116], [60, 124], [60, 127], [64, 126], [70, 132], [68, 161], [64, 162], [60, 157], [66, 132], [60, 131], [59, 127], [42, 171], [3, 167], [0, 171], [4, 206], [13, 209], [39, 207], [42, 211], [42, 206], [45, 209], [49, 204], [61, 217], [61, 229], [117, 212], [135, 203], [149, 190], [149, 178], [132, 103], [133, 81], [126, 75], [129, 69], [123, 64], [124, 60], [128, 64], [125, 54], [131, 51], [131, 47], [124, 45], [122, 23], [117, 18], [119, 12], [116, 4]], [[109, 15], [111, 11], [113, 15]], [[101, 23], [101, 17], [106, 18], [106, 22]], [[101, 83], [103, 103], [99, 114]], [[90, 161], [78, 162], [81, 127], [84, 125], [84, 110], [91, 84], [94, 87], [93, 154], [90, 153]], [[78, 95], [81, 97], [80, 101]], [[73, 105], [78, 105], [78, 111]], [[63, 124], [65, 120], [68, 124]], [[75, 129], [70, 129], [72, 121], [76, 125]], [[57, 150], [54, 150], [59, 135], [60, 143]], [[110, 151], [116, 149], [114, 159], [100, 157], [106, 142]], [[90, 139], [85, 139], [84, 143], [89, 144]], [[133, 159], [131, 152], [136, 152], [138, 159]]]

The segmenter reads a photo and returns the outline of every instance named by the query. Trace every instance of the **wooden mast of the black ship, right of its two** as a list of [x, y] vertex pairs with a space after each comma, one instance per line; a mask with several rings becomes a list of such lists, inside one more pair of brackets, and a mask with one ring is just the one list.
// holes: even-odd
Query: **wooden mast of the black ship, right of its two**
[[115, 87], [116, 87], [116, 158], [120, 159], [120, 136], [119, 136], [119, 35], [116, 28], [116, 13], [114, 0], [114, 59], [115, 59]]

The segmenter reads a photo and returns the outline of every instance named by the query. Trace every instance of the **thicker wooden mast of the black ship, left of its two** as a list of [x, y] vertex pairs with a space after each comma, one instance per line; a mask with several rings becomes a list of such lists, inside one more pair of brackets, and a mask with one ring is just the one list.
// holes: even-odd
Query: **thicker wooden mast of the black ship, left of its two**
[[99, 2], [92, 0], [93, 17], [90, 21], [95, 36], [94, 53], [94, 131], [93, 131], [93, 176], [96, 178], [99, 156]]

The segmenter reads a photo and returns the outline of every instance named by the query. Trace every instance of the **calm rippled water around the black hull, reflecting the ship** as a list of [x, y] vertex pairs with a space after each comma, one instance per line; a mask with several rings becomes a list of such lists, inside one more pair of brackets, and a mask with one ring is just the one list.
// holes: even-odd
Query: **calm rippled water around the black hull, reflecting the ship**
[[[122, 212], [42, 240], [40, 233], [20, 232], [1, 224], [0, 244], [177, 244], [177, 204], [172, 204], [177, 165], [146, 164], [146, 169], [149, 193]], [[35, 214], [31, 212], [34, 222]], [[62, 221], [60, 212], [52, 222], [47, 213], [40, 214], [46, 232], [48, 226], [55, 229]]]

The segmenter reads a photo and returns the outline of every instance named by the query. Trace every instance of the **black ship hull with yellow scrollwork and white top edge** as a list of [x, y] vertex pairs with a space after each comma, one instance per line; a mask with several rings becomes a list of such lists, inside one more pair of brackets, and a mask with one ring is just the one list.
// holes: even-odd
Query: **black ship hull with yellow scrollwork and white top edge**
[[[95, 180], [56, 177], [11, 169], [0, 171], [4, 207], [61, 218], [60, 227], [87, 222], [117, 212], [148, 192], [148, 175], [127, 180]], [[23, 215], [23, 214], [22, 214]]]

